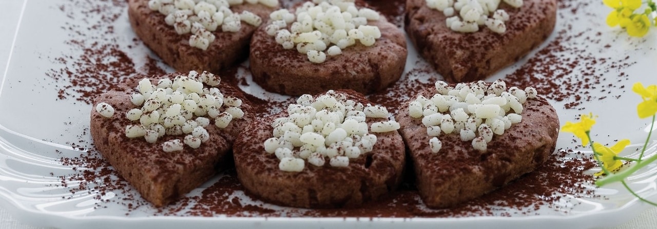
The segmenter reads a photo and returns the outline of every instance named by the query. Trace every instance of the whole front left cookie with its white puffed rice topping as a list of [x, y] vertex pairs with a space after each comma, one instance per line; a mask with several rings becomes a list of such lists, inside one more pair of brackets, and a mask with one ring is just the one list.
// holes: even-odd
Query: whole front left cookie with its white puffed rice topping
[[237, 89], [217, 86], [218, 76], [192, 77], [198, 81], [187, 76], [133, 78], [93, 102], [95, 146], [156, 207], [185, 195], [222, 169], [231, 160], [235, 136], [254, 116]]

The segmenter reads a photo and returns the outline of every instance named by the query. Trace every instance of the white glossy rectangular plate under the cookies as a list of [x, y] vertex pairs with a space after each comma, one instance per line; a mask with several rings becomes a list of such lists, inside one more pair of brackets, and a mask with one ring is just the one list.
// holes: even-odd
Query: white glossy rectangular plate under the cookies
[[[523, 211], [502, 207], [495, 209], [491, 216], [458, 218], [290, 218], [263, 217], [257, 214], [237, 217], [192, 216], [189, 207], [181, 205], [168, 207], [164, 211], [143, 205], [138, 193], [129, 186], [125, 190], [104, 193], [100, 195], [102, 199], [99, 199], [95, 185], [116, 184], [116, 177], [108, 176], [111, 178], [108, 183], [99, 180], [94, 184], [85, 184], [79, 182], [79, 176], [85, 171], [100, 172], [101, 168], [95, 170], [91, 165], [67, 164], [64, 163], [66, 160], [62, 160], [71, 161], [81, 155], [85, 156], [85, 149], [92, 147], [88, 131], [91, 106], [79, 101], [78, 98], [85, 97], [76, 92], [88, 91], [89, 88], [75, 86], [73, 78], [68, 76], [89, 74], [85, 72], [87, 70], [103, 72], [101, 68], [76, 65], [79, 63], [77, 61], [85, 57], [95, 57], [93, 53], [85, 53], [84, 48], [120, 51], [135, 64], [123, 67], [133, 68], [136, 72], [144, 71], [147, 57], [153, 55], [131, 31], [125, 3], [118, 0], [117, 4], [112, 1], [92, 2], [27, 1], [7, 73], [0, 82], [0, 203], [26, 222], [62, 228], [181, 228], [190, 225], [194, 228], [394, 228], [399, 224], [413, 228], [594, 228], [620, 224], [648, 207], [620, 184], [604, 188], [591, 186], [589, 190], [594, 193], [585, 197], [566, 195], [555, 202], [555, 205], [567, 209], [564, 211], [541, 207], [524, 215]], [[562, 1], [560, 6], [553, 35], [528, 57], [487, 81], [505, 78], [507, 74], [529, 68], [531, 64], [537, 64], [532, 67], [534, 69], [545, 70], [572, 63], [568, 68], [556, 69], [556, 74], [544, 76], [545, 81], [539, 82], [543, 86], [547, 84], [546, 81], [554, 82], [557, 91], [562, 93], [561, 99], [552, 96], [551, 100], [557, 109], [560, 123], [575, 120], [580, 113], [592, 112], [599, 115], [599, 124], [593, 133], [595, 140], [612, 143], [620, 138], [628, 138], [633, 143], [642, 143], [649, 120], [637, 118], [635, 109], [641, 98], [631, 92], [631, 86], [634, 82], [657, 84], [654, 76], [657, 33], [651, 31], [645, 38], [629, 38], [618, 28], [608, 28], [604, 18], [605, 13], [611, 9], [604, 7], [601, 1]], [[111, 18], [113, 15], [118, 17]], [[97, 45], [93, 44], [95, 41]], [[555, 41], [560, 41], [560, 45], [555, 45]], [[560, 56], [550, 57], [546, 51]], [[559, 63], [550, 63], [555, 60]], [[116, 63], [112, 58], [97, 61]], [[167, 71], [171, 70], [161, 63], [159, 65]], [[117, 69], [116, 66], [110, 68]], [[242, 66], [236, 73], [240, 80], [246, 82], [240, 84], [243, 91], [271, 101], [286, 99], [254, 85], [246, 69]], [[435, 73], [426, 72], [426, 69], [426, 63], [409, 43], [409, 59], [406, 73], [401, 79], [402, 84], [414, 80], [435, 80]], [[569, 69], [572, 72], [558, 72]], [[118, 81], [112, 75], [116, 71], [106, 73], [108, 76], [102, 80]], [[593, 74], [588, 76], [588, 73]], [[593, 87], [573, 86], [578, 81]], [[572, 149], [576, 144], [570, 134], [561, 134], [557, 148]], [[652, 146], [649, 155], [656, 151]], [[637, 145], [628, 147], [625, 155], [636, 157], [637, 148]], [[571, 153], [564, 160], [572, 157], [578, 157], [578, 154]], [[217, 176], [187, 197], [202, 195], [202, 191], [219, 178]], [[656, 178], [657, 166], [648, 166], [628, 178], [627, 182], [641, 195], [655, 200]], [[62, 180], [68, 180], [66, 186], [62, 186]], [[281, 215], [289, 212], [288, 216], [295, 216], [303, 212], [302, 209], [267, 205], [239, 192], [233, 195], [242, 203], [261, 205], [279, 211]], [[105, 200], [106, 203], [103, 202]], [[194, 201], [189, 203], [193, 205]], [[140, 206], [128, 207], [131, 204]], [[179, 211], [172, 210], [177, 207]]]

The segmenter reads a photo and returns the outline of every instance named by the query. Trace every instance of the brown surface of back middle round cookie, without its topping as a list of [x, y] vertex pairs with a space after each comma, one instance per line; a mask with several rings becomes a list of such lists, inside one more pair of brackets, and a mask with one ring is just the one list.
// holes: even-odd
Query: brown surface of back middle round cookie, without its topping
[[327, 60], [319, 64], [308, 61], [306, 53], [299, 53], [296, 48], [283, 49], [274, 36], [265, 32], [270, 23], [263, 23], [255, 32], [249, 57], [254, 82], [267, 91], [303, 95], [353, 89], [369, 94], [399, 80], [406, 64], [404, 34], [384, 16], [368, 22], [381, 32], [373, 46], [357, 41], [343, 49], [341, 55], [327, 55]]

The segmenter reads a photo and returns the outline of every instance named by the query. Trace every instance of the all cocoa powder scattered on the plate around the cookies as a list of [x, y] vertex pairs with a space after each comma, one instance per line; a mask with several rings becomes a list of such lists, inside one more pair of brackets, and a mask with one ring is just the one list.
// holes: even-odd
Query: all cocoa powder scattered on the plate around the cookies
[[[389, 20], [401, 26], [403, 22], [403, 0], [369, 1], [374, 8], [386, 14]], [[585, 101], [592, 99], [607, 99], [608, 97], [587, 96], [586, 91], [607, 90], [615, 88], [616, 80], [626, 80], [627, 75], [618, 73], [618, 79], [600, 77], [602, 72], [617, 71], [633, 64], [624, 57], [598, 57], [598, 52], [590, 50], [584, 43], [599, 43], [599, 32], [589, 28], [580, 34], [568, 32], [568, 26], [574, 23], [581, 4], [574, 0], [560, 1], [559, 17], [566, 24], [565, 28], [555, 31], [555, 38], [537, 54], [530, 57], [525, 64], [509, 74], [505, 80], [514, 85], [533, 86], [539, 93], [554, 101], [569, 101], [566, 108], [576, 108]], [[289, 5], [289, 3], [287, 3]], [[53, 63], [62, 68], [47, 71], [47, 76], [57, 80], [57, 100], [82, 101], [91, 103], [96, 95], [111, 89], [118, 82], [128, 77], [141, 74], [164, 74], [158, 59], [142, 54], [139, 57], [129, 55], [130, 51], [141, 44], [135, 40], [133, 44], [123, 47], [117, 44], [122, 34], [116, 34], [115, 23], [125, 12], [125, 0], [112, 1], [81, 1], [70, 0], [60, 6], [60, 11], [71, 20], [83, 21], [85, 26], [62, 26], [69, 32], [72, 39], [66, 42], [71, 49], [80, 51], [81, 55], [62, 53], [61, 57], [51, 58]], [[94, 31], [94, 32], [90, 32]], [[579, 38], [583, 38], [579, 41]], [[577, 42], [575, 42], [577, 40]], [[584, 42], [584, 43], [582, 43]], [[565, 57], [565, 53], [575, 53], [574, 57]], [[137, 60], [137, 61], [134, 61]], [[135, 62], [145, 62], [135, 64]], [[248, 71], [246, 66], [237, 66], [221, 72], [222, 84], [230, 84], [235, 88], [249, 86], [248, 81], [239, 72]], [[576, 71], [576, 72], [575, 72]], [[429, 75], [428, 78], [419, 76]], [[394, 86], [369, 95], [373, 103], [385, 105], [389, 111], [397, 112], [397, 107], [409, 96], [429, 86], [433, 86], [437, 76], [426, 63], [415, 63], [415, 68], [402, 77]], [[616, 89], [618, 91], [618, 89]], [[576, 93], [578, 92], [578, 93]], [[259, 95], [244, 93], [261, 114], [272, 114], [281, 107], [292, 103], [294, 98], [284, 101], [261, 99]], [[584, 95], [584, 96], [581, 96]], [[609, 97], [620, 95], [610, 94]], [[402, 108], [403, 109], [403, 108]], [[88, 131], [87, 131], [88, 132]], [[135, 209], [150, 207], [150, 204], [135, 195], [134, 191], [101, 155], [94, 149], [93, 143], [86, 132], [78, 134], [79, 142], [70, 143], [75, 149], [85, 153], [78, 157], [61, 157], [62, 165], [74, 169], [69, 176], [60, 176], [61, 184], [67, 187], [75, 182], [80, 184], [70, 188], [73, 197], [79, 191], [86, 191], [99, 201], [97, 208], [120, 205], [127, 209], [125, 215], [131, 215]], [[413, 180], [407, 180], [398, 191], [393, 191], [381, 201], [369, 203], [358, 209], [286, 209], [278, 211], [270, 205], [257, 201], [256, 197], [244, 193], [237, 180], [235, 170], [223, 172], [200, 193], [181, 197], [177, 202], [158, 209], [153, 215], [178, 216], [313, 216], [313, 217], [454, 217], [454, 216], [509, 216], [514, 213], [535, 215], [539, 208], [553, 209], [558, 212], [570, 211], [569, 205], [558, 201], [566, 196], [603, 198], [598, 196], [593, 185], [593, 176], [583, 171], [593, 168], [596, 164], [590, 155], [578, 155], [574, 151], [559, 149], [545, 165], [522, 176], [511, 184], [463, 203], [452, 209], [427, 209], [422, 204], [419, 193], [414, 188]], [[85, 168], [85, 169], [78, 169]], [[107, 197], [108, 193], [117, 193], [120, 197]], [[576, 205], [576, 203], [574, 203]], [[572, 206], [572, 205], [570, 205]], [[517, 215], [517, 214], [516, 214]]]

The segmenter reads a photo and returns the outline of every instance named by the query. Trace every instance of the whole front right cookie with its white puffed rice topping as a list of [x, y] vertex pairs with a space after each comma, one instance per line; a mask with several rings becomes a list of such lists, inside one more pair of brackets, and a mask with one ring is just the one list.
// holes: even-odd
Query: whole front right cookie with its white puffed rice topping
[[[453, 207], [484, 195], [531, 172], [555, 151], [558, 117], [545, 98], [534, 97], [532, 88], [507, 90], [501, 81], [492, 86], [484, 82], [459, 84], [457, 88], [468, 85], [474, 91], [500, 95], [466, 93], [467, 99], [459, 99], [461, 103], [455, 98], [463, 95], [449, 93], [447, 84], [437, 85], [440, 90], [424, 89], [401, 105], [396, 116], [415, 168], [420, 197], [428, 207]], [[449, 95], [436, 95], [438, 91]], [[446, 108], [448, 101], [453, 101], [451, 108]], [[499, 104], [505, 104], [501, 109], [505, 116], [498, 113]], [[466, 114], [468, 108], [475, 115]], [[516, 114], [520, 110], [522, 113]], [[490, 118], [472, 118], [480, 115]]]

